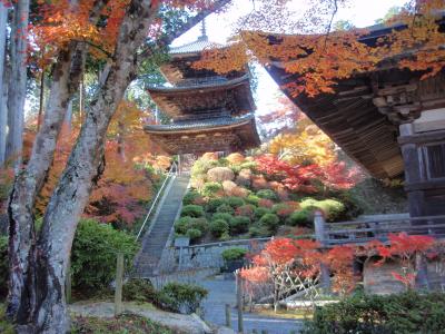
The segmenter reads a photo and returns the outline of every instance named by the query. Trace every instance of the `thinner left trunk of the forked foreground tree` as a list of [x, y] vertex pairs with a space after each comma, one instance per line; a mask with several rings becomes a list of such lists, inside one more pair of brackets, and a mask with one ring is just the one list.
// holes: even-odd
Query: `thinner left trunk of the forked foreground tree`
[[[90, 19], [97, 22], [108, 0], [97, 1]], [[52, 82], [43, 122], [32, 146], [27, 168], [19, 173], [10, 195], [9, 217], [9, 295], [8, 316], [18, 324], [32, 321], [36, 308], [36, 244], [33, 206], [51, 167], [68, 102], [79, 86], [85, 46], [71, 42], [60, 51], [52, 69]], [[28, 273], [29, 267], [31, 274]]]

